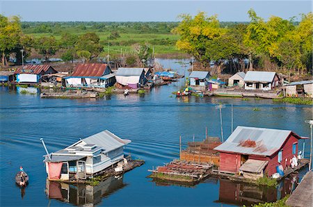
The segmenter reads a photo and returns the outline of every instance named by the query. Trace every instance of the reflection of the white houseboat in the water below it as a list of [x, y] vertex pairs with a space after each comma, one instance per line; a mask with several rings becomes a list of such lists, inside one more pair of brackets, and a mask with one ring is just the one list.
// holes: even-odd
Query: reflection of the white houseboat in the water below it
[[75, 206], [86, 204], [99, 204], [102, 197], [124, 188], [127, 184], [123, 183], [123, 177], [109, 177], [105, 181], [101, 181], [99, 185], [72, 185], [47, 180], [46, 194], [49, 199], [56, 199]]

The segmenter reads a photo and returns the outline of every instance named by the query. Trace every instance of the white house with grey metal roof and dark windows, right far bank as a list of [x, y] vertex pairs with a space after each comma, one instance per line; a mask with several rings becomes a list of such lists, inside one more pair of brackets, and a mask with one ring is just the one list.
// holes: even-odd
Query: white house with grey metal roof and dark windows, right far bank
[[280, 85], [275, 72], [248, 71], [245, 78], [245, 90], [273, 90]]

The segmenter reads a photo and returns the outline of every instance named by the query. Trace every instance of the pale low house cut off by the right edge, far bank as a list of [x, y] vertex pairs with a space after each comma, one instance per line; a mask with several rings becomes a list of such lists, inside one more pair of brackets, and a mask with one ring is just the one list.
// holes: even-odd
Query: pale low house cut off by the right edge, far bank
[[292, 82], [285, 86], [287, 97], [313, 97], [313, 80]]

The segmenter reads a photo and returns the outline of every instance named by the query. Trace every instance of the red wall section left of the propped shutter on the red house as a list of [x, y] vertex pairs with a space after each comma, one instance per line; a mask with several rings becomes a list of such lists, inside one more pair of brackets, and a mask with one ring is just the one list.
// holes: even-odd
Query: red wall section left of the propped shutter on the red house
[[220, 152], [220, 171], [237, 172], [240, 167], [241, 155]]

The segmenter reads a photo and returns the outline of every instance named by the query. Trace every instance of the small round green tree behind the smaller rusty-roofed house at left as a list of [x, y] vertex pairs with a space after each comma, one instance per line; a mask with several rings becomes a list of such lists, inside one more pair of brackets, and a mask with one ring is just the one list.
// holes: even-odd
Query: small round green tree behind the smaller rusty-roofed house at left
[[54, 36], [40, 37], [35, 41], [35, 48], [46, 61], [49, 61], [49, 57], [54, 56], [58, 51], [58, 42]]

